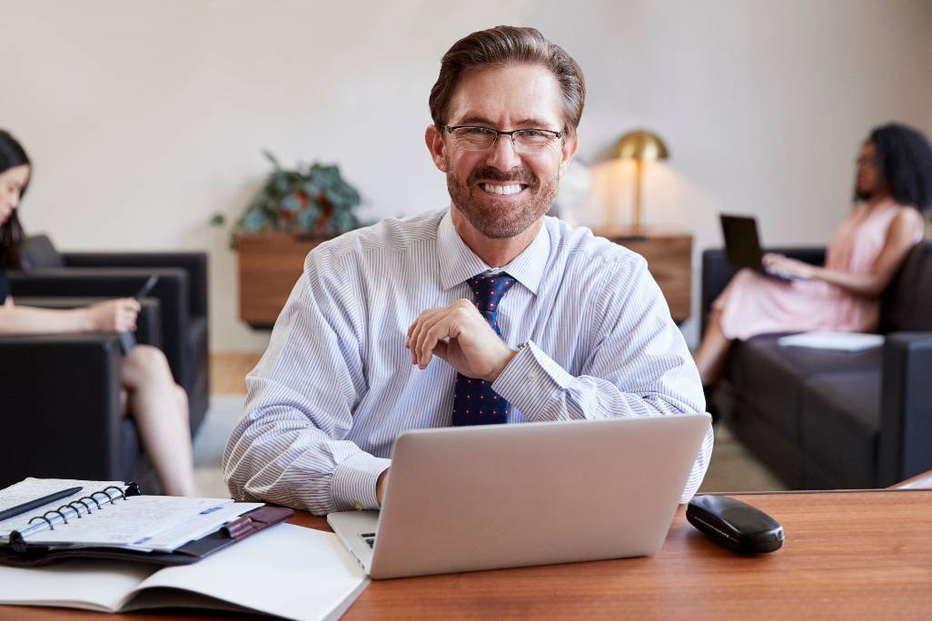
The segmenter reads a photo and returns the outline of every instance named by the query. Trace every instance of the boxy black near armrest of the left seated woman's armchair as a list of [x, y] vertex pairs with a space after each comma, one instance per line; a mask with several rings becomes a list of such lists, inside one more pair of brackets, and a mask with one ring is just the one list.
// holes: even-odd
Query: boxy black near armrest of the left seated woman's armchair
[[0, 487], [119, 479], [119, 364], [114, 334], [0, 337]]

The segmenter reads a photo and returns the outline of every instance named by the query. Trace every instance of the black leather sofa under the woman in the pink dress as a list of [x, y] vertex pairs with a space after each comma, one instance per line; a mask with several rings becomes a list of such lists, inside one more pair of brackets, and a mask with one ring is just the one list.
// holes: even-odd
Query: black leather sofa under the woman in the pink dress
[[[822, 249], [772, 249], [824, 263]], [[703, 327], [734, 274], [723, 250], [702, 263]], [[885, 487], [932, 468], [932, 241], [884, 292], [884, 345], [858, 353], [735, 342], [713, 397], [735, 436], [790, 488]]]

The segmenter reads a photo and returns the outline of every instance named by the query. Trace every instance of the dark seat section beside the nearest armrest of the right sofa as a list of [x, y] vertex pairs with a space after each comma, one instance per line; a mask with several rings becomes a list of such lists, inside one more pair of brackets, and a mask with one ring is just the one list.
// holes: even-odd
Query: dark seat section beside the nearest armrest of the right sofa
[[844, 487], [877, 485], [879, 372], [824, 373], [802, 391], [802, 449]]

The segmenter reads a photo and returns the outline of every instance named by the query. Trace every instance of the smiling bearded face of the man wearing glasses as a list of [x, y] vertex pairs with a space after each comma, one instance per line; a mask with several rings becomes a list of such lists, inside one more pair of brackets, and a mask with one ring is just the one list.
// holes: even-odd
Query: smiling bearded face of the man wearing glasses
[[[546, 67], [511, 64], [465, 74], [450, 101], [446, 124], [562, 131], [559, 84]], [[550, 209], [557, 184], [576, 152], [564, 136], [540, 151], [517, 153], [508, 136], [485, 151], [458, 146], [450, 134], [428, 128], [434, 163], [446, 173], [453, 205], [482, 235], [517, 236]]]

